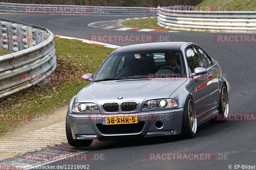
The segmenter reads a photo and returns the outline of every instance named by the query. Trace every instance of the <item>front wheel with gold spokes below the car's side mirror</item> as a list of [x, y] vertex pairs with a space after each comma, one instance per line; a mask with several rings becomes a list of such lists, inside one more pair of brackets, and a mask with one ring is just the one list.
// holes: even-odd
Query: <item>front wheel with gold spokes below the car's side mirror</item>
[[182, 120], [182, 137], [192, 138], [196, 136], [197, 129], [197, 118], [196, 118], [196, 107], [194, 100], [191, 96], [188, 97], [183, 113]]

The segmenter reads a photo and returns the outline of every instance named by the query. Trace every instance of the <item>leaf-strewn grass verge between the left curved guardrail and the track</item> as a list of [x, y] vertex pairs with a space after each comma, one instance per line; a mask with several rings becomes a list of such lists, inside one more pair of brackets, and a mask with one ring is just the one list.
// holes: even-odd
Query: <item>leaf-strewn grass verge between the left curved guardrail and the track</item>
[[[75, 75], [76, 79], [50, 81], [43, 86], [35, 86], [23, 95], [9, 97], [1, 102], [0, 114], [44, 115], [68, 106], [69, 100], [88, 82], [82, 81], [85, 73], [94, 74], [105, 58], [114, 50], [77, 40], [56, 38], [57, 68], [55, 74]], [[0, 51], [0, 55], [5, 52]], [[1, 118], [1, 117], [0, 117]], [[25, 121], [0, 121], [0, 136]]]

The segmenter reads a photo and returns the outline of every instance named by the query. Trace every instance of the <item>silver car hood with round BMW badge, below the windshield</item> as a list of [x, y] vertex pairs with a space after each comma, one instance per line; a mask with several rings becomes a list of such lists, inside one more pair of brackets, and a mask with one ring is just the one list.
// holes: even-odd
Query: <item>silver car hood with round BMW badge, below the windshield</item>
[[[112, 101], [145, 102], [151, 99], [169, 98], [187, 78], [178, 80], [113, 80], [91, 83], [77, 95], [77, 102], [91, 102], [101, 105]], [[122, 100], [118, 100], [123, 96]]]

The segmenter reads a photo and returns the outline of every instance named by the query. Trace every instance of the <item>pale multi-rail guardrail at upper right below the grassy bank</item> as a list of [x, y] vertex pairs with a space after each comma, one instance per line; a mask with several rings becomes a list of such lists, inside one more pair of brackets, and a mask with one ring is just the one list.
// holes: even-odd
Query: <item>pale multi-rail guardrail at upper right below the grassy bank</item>
[[172, 30], [256, 32], [256, 11], [183, 11], [158, 7], [158, 25]]

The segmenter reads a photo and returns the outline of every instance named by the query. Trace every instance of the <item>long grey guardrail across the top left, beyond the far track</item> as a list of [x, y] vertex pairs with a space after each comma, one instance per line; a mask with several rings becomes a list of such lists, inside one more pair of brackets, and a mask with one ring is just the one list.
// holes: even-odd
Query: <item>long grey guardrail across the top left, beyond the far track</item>
[[[154, 7], [108, 7], [0, 3], [1, 12], [156, 16]], [[151, 11], [150, 11], [151, 10]]]

